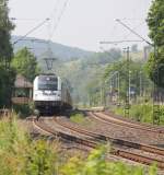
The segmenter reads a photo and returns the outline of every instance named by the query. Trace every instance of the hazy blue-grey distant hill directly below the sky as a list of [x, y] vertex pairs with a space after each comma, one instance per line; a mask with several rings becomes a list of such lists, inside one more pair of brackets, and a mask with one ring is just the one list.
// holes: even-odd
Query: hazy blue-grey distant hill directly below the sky
[[[12, 36], [12, 43], [14, 43], [20, 38], [21, 36]], [[31, 51], [37, 56], [37, 58], [42, 58], [42, 55], [44, 55], [48, 50], [47, 40], [37, 39], [33, 37], [25, 37], [23, 40], [20, 40], [17, 44], [15, 44], [14, 52], [23, 47], [30, 48]], [[92, 51], [83, 50], [77, 47], [65, 46], [52, 42], [50, 42], [50, 48], [55, 57], [66, 61], [72, 59], [75, 60], [75, 59], [89, 58], [94, 54]]]

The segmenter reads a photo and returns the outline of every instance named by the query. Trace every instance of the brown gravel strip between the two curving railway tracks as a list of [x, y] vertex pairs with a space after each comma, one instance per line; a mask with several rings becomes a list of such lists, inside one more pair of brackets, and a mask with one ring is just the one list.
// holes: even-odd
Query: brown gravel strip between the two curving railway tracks
[[75, 127], [81, 127], [83, 129], [87, 129], [90, 131], [99, 133], [99, 135], [105, 135], [108, 137], [113, 138], [118, 138], [118, 139], [126, 139], [129, 141], [133, 142], [139, 142], [139, 143], [144, 143], [144, 144], [152, 144], [152, 145], [164, 145], [164, 135], [161, 133], [153, 133], [149, 131], [139, 130], [134, 128], [128, 128], [125, 126], [118, 126], [116, 124], [104, 124], [103, 121], [98, 121], [92, 117], [86, 117], [87, 120], [90, 120], [89, 124], [92, 125], [80, 125], [70, 121], [69, 118], [67, 117], [58, 117], [59, 120], [62, 122], [67, 122], [70, 126], [72, 125]]

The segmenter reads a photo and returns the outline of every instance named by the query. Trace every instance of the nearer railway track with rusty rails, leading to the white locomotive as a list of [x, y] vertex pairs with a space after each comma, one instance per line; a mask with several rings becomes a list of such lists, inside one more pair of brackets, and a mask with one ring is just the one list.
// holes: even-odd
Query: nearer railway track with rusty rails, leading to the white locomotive
[[[70, 141], [79, 143], [79, 144], [83, 144], [83, 145], [85, 145], [87, 148], [92, 148], [92, 149], [95, 149], [97, 147], [97, 144], [99, 143], [99, 141], [108, 140], [108, 138], [105, 138], [105, 136], [93, 133], [93, 132], [86, 131], [84, 129], [82, 130], [82, 129], [79, 129], [79, 128], [72, 128], [72, 127], [70, 127], [66, 124], [61, 124], [61, 122], [57, 121], [57, 119], [54, 119], [54, 122], [57, 122], [58, 125], [60, 125], [65, 128], [68, 128], [69, 130], [73, 130], [77, 133], [82, 133], [82, 135], [86, 135], [87, 137], [93, 137], [94, 141], [89, 140], [89, 139], [86, 140], [84, 138], [79, 138], [79, 137], [77, 137], [74, 135], [72, 136], [68, 132], [55, 131], [51, 128], [47, 128], [47, 126], [45, 126], [43, 121], [40, 122], [40, 121], [33, 120], [33, 122], [34, 122], [35, 126], [37, 126], [42, 130], [45, 130], [46, 132], [49, 132], [49, 135], [55, 135], [56, 137], [60, 137], [62, 139], [67, 139], [67, 140], [70, 140]], [[147, 150], [148, 152], [153, 152], [153, 153], [157, 152], [157, 154], [164, 155], [164, 150], [162, 150], [162, 149], [141, 145], [141, 144], [138, 144], [138, 143], [125, 142], [122, 140], [117, 140], [117, 139], [114, 139], [113, 141], [117, 142], [117, 143], [125, 143], [126, 145], [130, 144], [130, 147], [137, 147], [138, 149], [143, 149], [144, 151]], [[157, 149], [159, 151], [152, 151], [153, 149]], [[130, 151], [127, 151], [127, 150], [124, 150], [124, 149], [117, 149], [117, 148], [113, 149], [110, 153], [114, 154], [114, 155], [120, 156], [120, 158], [132, 160], [134, 162], [147, 164], [147, 165], [151, 165], [154, 162], [156, 162], [156, 164], [160, 168], [164, 168], [164, 161], [159, 160], [156, 158], [149, 158], [149, 156], [145, 156], [145, 155], [140, 155], [140, 154], [137, 154], [137, 153], [133, 153], [133, 152], [130, 152]]]

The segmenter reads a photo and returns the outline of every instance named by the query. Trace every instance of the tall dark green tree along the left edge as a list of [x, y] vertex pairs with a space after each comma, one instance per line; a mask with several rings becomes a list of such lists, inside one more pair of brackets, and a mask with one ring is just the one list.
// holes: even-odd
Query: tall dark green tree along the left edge
[[13, 50], [11, 31], [14, 25], [9, 20], [8, 0], [0, 0], [0, 107], [10, 106], [15, 73], [9, 67]]

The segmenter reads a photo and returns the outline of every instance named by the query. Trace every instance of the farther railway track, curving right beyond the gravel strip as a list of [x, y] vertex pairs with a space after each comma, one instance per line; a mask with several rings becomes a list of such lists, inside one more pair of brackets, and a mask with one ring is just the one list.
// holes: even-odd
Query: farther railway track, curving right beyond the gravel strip
[[109, 116], [107, 114], [104, 113], [94, 113], [94, 112], [90, 112], [89, 115], [91, 117], [93, 117], [96, 120], [103, 121], [105, 124], [113, 124], [113, 125], [117, 125], [117, 126], [124, 126], [127, 128], [131, 128], [131, 129], [137, 129], [137, 130], [143, 130], [143, 131], [148, 131], [148, 132], [152, 132], [152, 133], [164, 133], [164, 128], [159, 128], [159, 127], [151, 127], [151, 126], [147, 126], [147, 125], [140, 125], [138, 122], [133, 122], [130, 120], [124, 120], [120, 118], [116, 118], [113, 116]]

